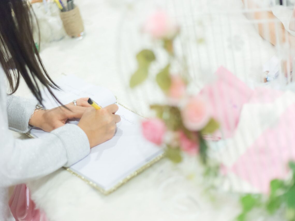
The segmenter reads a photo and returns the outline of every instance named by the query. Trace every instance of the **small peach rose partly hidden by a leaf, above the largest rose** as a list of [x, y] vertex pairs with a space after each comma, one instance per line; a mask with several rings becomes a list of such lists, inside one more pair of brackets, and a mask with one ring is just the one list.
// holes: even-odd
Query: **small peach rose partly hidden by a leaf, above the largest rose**
[[171, 75], [171, 86], [168, 91], [170, 103], [177, 104], [186, 92], [186, 84], [179, 75]]

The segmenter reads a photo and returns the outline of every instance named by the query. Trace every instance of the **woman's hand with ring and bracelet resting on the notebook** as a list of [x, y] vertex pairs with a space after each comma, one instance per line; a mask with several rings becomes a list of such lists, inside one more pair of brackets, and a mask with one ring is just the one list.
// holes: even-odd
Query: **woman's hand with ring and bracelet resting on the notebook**
[[80, 98], [76, 101], [77, 106], [73, 102], [60, 106], [57, 108], [49, 110], [38, 110], [34, 112], [34, 115], [29, 121], [29, 124], [35, 127], [41, 128], [43, 131], [53, 131], [59, 128], [65, 123], [73, 118], [80, 119], [86, 110], [86, 108], [91, 107], [87, 102], [89, 98]]

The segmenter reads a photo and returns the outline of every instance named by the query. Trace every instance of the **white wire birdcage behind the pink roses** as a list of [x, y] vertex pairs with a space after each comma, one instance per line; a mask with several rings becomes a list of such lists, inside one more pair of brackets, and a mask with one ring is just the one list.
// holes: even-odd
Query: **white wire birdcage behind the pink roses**
[[[143, 48], [153, 48], [159, 58], [152, 70], [163, 67], [167, 58], [140, 29], [151, 11], [157, 8], [168, 11], [181, 27], [175, 50], [179, 61], [188, 66], [191, 93], [198, 93], [216, 80], [214, 73], [219, 67], [231, 72], [255, 93], [251, 94], [252, 100], [241, 106], [237, 125], [229, 123], [232, 135], [221, 133], [219, 141], [209, 141], [210, 156], [227, 168], [226, 179], [220, 185], [223, 189], [264, 193], [268, 192], [271, 179], [287, 178], [288, 161], [295, 159], [292, 146], [295, 120], [291, 115], [295, 104], [294, 32], [289, 30], [294, 4], [286, 0], [282, 5], [279, 1], [244, 1], [167, 0], [128, 4], [118, 27], [118, 71], [122, 82], [128, 85], [136, 67], [135, 55]], [[163, 100], [161, 91], [152, 83], [146, 82], [135, 90], [126, 87], [125, 103], [143, 115], [149, 113], [150, 103]], [[241, 85], [232, 87], [239, 91]], [[227, 93], [230, 93], [227, 88], [222, 95], [218, 88], [213, 93], [220, 115], [224, 114], [224, 98], [231, 97], [233, 102], [244, 99], [240, 98], [242, 94]], [[232, 115], [230, 109], [225, 111], [227, 116]]]

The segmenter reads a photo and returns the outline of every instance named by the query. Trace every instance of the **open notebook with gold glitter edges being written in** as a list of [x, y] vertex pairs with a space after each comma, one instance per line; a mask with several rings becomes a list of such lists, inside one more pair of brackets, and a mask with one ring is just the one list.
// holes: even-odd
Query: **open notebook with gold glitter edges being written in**
[[[82, 97], [91, 97], [102, 107], [116, 103], [115, 96], [108, 89], [86, 84], [74, 76], [63, 77], [58, 85], [63, 92], [54, 93], [65, 104]], [[58, 106], [46, 91], [44, 98], [47, 109]], [[121, 122], [117, 124], [115, 136], [92, 148], [88, 156], [67, 169], [104, 194], [113, 192], [163, 157], [163, 149], [142, 136], [140, 120], [143, 118], [118, 105], [117, 114], [121, 116]], [[68, 123], [78, 124], [78, 121]], [[29, 131], [29, 135], [38, 138], [46, 134], [47, 132], [35, 127]]]

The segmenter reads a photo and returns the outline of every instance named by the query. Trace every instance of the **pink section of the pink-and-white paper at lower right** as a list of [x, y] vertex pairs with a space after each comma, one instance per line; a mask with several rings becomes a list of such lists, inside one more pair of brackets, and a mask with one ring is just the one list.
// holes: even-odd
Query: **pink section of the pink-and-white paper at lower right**
[[282, 114], [277, 125], [264, 131], [235, 164], [223, 171], [231, 171], [260, 192], [268, 193], [271, 180], [285, 179], [288, 162], [295, 159], [294, 113], [295, 104]]

